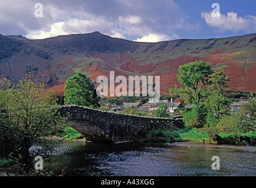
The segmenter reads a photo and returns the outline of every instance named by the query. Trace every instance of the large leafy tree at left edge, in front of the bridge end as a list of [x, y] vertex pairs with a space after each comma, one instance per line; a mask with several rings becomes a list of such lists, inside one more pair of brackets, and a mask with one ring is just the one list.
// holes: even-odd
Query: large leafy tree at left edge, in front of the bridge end
[[0, 155], [12, 153], [28, 162], [29, 147], [63, 130], [67, 119], [42, 95], [43, 83], [31, 76], [12, 87], [7, 79], [4, 82], [6, 87], [0, 88]]

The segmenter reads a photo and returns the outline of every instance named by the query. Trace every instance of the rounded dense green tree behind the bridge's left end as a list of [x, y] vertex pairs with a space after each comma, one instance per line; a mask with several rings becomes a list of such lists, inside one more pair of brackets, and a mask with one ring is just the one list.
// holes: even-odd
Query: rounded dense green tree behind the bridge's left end
[[97, 108], [99, 106], [100, 97], [96, 94], [94, 84], [90, 78], [84, 73], [77, 72], [65, 82], [64, 94], [65, 102], [70, 102], [71, 105], [88, 106]]

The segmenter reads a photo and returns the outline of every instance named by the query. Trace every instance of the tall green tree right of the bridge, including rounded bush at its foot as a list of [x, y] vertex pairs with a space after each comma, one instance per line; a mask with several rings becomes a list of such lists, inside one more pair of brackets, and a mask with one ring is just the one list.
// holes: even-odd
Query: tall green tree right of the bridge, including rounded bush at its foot
[[187, 127], [202, 127], [206, 109], [204, 99], [209, 85], [209, 75], [212, 73], [211, 64], [201, 60], [185, 63], [179, 66], [177, 78], [185, 88], [175, 85], [169, 92], [181, 95], [187, 104], [195, 105], [190, 112], [183, 114], [183, 122]]

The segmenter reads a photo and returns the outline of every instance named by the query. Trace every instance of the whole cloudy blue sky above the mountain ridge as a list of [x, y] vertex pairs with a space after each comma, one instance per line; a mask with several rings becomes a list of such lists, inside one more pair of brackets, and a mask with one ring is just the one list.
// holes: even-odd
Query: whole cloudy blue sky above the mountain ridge
[[255, 0], [0, 0], [0, 33], [44, 39], [99, 31], [137, 42], [256, 33]]

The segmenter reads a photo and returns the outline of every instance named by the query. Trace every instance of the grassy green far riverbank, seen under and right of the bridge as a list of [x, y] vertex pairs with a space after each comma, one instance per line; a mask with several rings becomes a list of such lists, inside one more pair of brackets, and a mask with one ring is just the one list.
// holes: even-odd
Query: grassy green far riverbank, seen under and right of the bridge
[[[75, 140], [80, 142], [91, 142], [87, 140], [80, 132], [73, 127], [67, 127], [64, 132], [58, 135], [65, 140]], [[244, 133], [239, 136], [218, 135], [216, 140], [209, 138], [208, 134], [200, 133], [199, 129], [182, 129], [171, 130], [152, 130], [146, 135], [133, 137], [134, 141], [149, 142], [149, 143], [164, 143], [164, 142], [202, 142], [202, 143], [218, 143], [225, 145], [256, 145], [256, 133]], [[109, 142], [109, 139], [106, 140]]]

